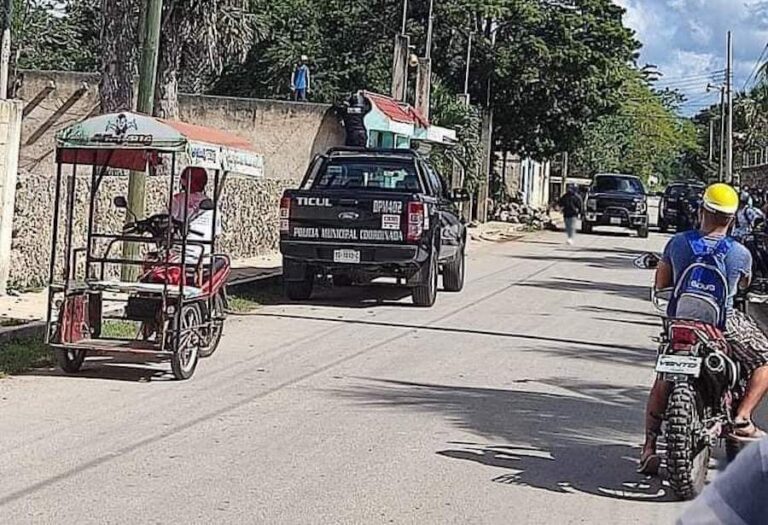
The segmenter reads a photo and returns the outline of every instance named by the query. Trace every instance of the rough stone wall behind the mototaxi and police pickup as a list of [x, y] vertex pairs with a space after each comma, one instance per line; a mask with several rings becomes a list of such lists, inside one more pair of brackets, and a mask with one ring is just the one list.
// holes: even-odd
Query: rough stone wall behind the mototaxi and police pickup
[[[54, 135], [99, 113], [98, 80], [97, 75], [81, 73], [23, 73], [17, 91], [26, 106], [12, 232], [11, 286], [39, 286], [47, 279], [55, 190]], [[196, 95], [182, 95], [179, 102], [181, 120], [240, 135], [264, 156], [264, 178], [228, 180], [222, 196], [222, 250], [233, 258], [274, 251], [283, 190], [299, 183], [316, 153], [343, 143], [343, 129], [330, 107]], [[77, 173], [74, 246], [82, 246], [85, 237], [84, 190], [90, 185], [90, 174], [85, 169]], [[110, 178], [100, 188], [97, 208], [103, 229], [120, 225], [122, 214], [110, 202], [114, 195], [124, 194], [125, 187], [125, 178]], [[166, 191], [161, 180], [150, 182], [148, 211], [162, 207], [161, 196]]]

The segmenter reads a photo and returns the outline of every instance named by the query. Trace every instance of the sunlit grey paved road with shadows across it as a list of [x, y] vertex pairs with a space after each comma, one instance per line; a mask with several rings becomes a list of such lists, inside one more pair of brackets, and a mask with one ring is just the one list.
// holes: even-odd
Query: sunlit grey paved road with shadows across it
[[664, 238], [562, 241], [474, 250], [428, 310], [323, 289], [231, 318], [188, 382], [0, 381], [0, 521], [671, 523], [634, 473], [659, 321], [632, 259]]

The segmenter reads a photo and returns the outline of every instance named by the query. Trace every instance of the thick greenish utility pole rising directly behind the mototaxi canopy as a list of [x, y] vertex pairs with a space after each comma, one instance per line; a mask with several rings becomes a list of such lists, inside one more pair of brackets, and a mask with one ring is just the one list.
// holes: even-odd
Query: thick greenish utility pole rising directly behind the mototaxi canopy
[[[142, 22], [144, 34], [141, 35], [141, 63], [139, 65], [139, 93], [136, 109], [139, 113], [152, 115], [155, 105], [155, 85], [157, 84], [157, 59], [160, 51], [160, 22], [163, 14], [163, 0], [144, 0]], [[173, 177], [174, 174], [170, 173]], [[143, 217], [146, 209], [147, 174], [132, 171], [128, 178], [128, 209]], [[129, 220], [126, 213], [126, 221]], [[135, 243], [123, 244], [123, 258], [137, 259], [139, 246]], [[138, 267], [126, 264], [122, 269], [124, 281], [135, 281]]]

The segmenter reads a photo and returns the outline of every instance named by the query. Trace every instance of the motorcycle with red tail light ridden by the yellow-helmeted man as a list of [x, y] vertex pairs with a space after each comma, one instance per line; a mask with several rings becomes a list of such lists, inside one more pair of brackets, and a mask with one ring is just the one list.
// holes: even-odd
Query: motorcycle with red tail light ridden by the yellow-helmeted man
[[[650, 268], [645, 263], [654, 259], [645, 254], [636, 266]], [[672, 292], [655, 291], [654, 306], [666, 313]], [[664, 319], [656, 372], [671, 384], [663, 417], [670, 488], [680, 499], [693, 499], [704, 489], [712, 449], [724, 441], [729, 461], [739, 452], [739, 443], [727, 436], [746, 377], [714, 323], [685, 318]]]

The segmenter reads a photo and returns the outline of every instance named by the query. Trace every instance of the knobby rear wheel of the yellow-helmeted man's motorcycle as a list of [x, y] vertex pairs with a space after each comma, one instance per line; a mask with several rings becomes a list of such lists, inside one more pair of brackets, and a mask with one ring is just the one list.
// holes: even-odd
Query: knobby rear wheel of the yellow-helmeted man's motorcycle
[[672, 389], [667, 406], [667, 471], [669, 485], [682, 500], [698, 496], [707, 481], [711, 449], [698, 435], [696, 393], [688, 383]]

